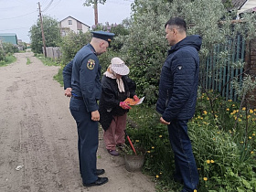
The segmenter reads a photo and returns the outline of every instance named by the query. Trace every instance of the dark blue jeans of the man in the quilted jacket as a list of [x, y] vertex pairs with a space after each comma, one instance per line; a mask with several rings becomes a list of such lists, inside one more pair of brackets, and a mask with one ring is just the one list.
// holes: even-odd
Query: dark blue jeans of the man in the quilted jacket
[[197, 189], [198, 172], [192, 152], [190, 139], [187, 135], [188, 120], [174, 120], [168, 125], [169, 140], [175, 154], [177, 180], [184, 183], [183, 191]]

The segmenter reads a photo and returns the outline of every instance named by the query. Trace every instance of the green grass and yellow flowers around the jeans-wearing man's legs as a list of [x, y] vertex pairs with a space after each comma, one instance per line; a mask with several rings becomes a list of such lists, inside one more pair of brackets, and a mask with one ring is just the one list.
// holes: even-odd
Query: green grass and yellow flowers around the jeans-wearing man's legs
[[[256, 187], [256, 109], [239, 110], [239, 103], [219, 99], [214, 104], [221, 107], [213, 115], [208, 102], [206, 94], [198, 98], [196, 115], [188, 123], [199, 172], [198, 191], [253, 191]], [[240, 121], [234, 129], [238, 112]], [[146, 151], [144, 171], [155, 176], [159, 191], [180, 190], [181, 185], [172, 179], [175, 163], [167, 127], [159, 123], [155, 106], [133, 106], [128, 115], [137, 126], [130, 125], [127, 133], [133, 144], [139, 144]], [[247, 119], [250, 126], [246, 131]]]

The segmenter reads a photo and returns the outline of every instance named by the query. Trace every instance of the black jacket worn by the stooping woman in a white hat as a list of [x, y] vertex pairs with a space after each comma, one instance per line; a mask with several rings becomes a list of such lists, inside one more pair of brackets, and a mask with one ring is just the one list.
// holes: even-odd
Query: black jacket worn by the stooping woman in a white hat
[[114, 116], [122, 116], [128, 110], [123, 110], [119, 103], [128, 97], [133, 98], [136, 85], [127, 76], [122, 77], [124, 91], [120, 92], [115, 79], [111, 79], [103, 75], [101, 80], [101, 100], [99, 104], [99, 112], [101, 115], [100, 123], [104, 130], [107, 130], [112, 123]]

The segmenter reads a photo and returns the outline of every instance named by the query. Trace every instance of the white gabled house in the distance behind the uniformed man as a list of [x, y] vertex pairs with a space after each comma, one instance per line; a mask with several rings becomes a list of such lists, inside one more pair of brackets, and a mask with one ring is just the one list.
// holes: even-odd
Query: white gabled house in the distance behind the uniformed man
[[66, 36], [69, 31], [74, 31], [75, 33], [79, 33], [80, 31], [85, 33], [87, 32], [90, 27], [78, 19], [68, 16], [59, 22], [60, 26], [60, 35], [62, 37]]

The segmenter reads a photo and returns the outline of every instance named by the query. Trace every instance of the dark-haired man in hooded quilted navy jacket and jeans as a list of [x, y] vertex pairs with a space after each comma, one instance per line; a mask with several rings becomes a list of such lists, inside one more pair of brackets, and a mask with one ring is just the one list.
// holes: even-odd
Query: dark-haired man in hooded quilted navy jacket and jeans
[[187, 37], [186, 22], [178, 17], [165, 24], [165, 38], [172, 48], [161, 71], [156, 111], [167, 124], [175, 154], [175, 180], [183, 182], [182, 192], [197, 189], [197, 165], [187, 134], [187, 122], [195, 113], [199, 71], [199, 36]]

